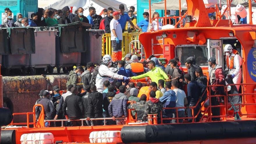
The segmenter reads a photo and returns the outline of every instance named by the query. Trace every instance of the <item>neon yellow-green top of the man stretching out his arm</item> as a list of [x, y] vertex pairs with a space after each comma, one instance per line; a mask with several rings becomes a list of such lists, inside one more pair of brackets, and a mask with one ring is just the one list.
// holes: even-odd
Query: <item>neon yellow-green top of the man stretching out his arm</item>
[[160, 67], [155, 67], [149, 72], [135, 76], [135, 77], [131, 77], [131, 79], [142, 79], [144, 77], [150, 77], [150, 79], [153, 82], [156, 82], [157, 84], [159, 79], [163, 79], [163, 80], [168, 79], [167, 74]]

